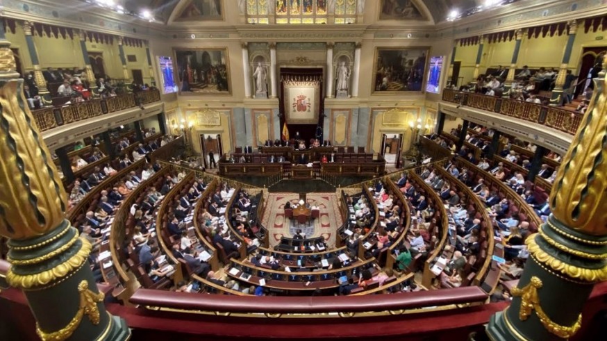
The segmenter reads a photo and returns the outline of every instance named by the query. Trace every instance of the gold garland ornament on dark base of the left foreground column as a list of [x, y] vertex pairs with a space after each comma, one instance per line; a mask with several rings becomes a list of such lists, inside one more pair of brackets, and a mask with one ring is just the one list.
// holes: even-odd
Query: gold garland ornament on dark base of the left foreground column
[[96, 294], [92, 292], [92, 290], [88, 288], [87, 281], [81, 281], [80, 284], [78, 284], [78, 292], [80, 293], [80, 306], [76, 312], [76, 315], [67, 324], [67, 326], [59, 329], [58, 331], [47, 333], [40, 329], [40, 325], [38, 325], [38, 323], [36, 324], [36, 333], [38, 336], [40, 336], [42, 341], [62, 341], [69, 338], [80, 325], [84, 315], [88, 315], [90, 322], [95, 326], [99, 324], [101, 321], [101, 315], [99, 314], [99, 307], [97, 307], [97, 303], [103, 301], [103, 293], [99, 292]]

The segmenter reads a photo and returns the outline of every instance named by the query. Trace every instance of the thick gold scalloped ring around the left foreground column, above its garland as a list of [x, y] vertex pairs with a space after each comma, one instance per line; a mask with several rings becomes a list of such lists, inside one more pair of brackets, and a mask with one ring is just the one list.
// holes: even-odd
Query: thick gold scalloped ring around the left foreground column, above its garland
[[78, 252], [69, 258], [64, 263], [48, 269], [38, 274], [19, 275], [13, 272], [11, 267], [6, 274], [6, 281], [15, 288], [31, 289], [43, 285], [47, 285], [52, 281], [56, 281], [59, 278], [67, 276], [70, 272], [78, 269], [83, 263], [85, 263], [90, 250], [91, 244], [88, 240], [81, 239], [82, 247]]

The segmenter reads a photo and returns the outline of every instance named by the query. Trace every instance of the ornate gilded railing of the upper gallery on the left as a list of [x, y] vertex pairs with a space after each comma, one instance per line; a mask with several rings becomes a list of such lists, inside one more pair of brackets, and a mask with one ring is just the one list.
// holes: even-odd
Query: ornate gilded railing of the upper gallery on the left
[[92, 99], [80, 103], [72, 103], [63, 106], [45, 107], [32, 110], [32, 114], [38, 124], [40, 131], [47, 131], [64, 124], [78, 122], [115, 113], [120, 110], [136, 108], [147, 103], [160, 101], [158, 90], [149, 90], [131, 94], [121, 94], [107, 99]]

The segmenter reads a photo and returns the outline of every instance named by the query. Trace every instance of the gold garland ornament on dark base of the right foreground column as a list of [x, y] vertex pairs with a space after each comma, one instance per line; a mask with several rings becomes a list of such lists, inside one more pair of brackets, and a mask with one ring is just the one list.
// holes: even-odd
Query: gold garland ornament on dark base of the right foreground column
[[535, 315], [538, 316], [540, 322], [544, 328], [547, 329], [550, 333], [557, 335], [559, 338], [571, 338], [582, 325], [582, 315], [580, 314], [576, 320], [576, 322], [572, 326], [561, 326], [560, 324], [555, 323], [548, 317], [542, 306], [540, 305], [540, 297], [538, 295], [538, 289], [542, 288], [542, 280], [537, 277], [531, 277], [531, 281], [529, 284], [525, 285], [522, 289], [515, 287], [510, 290], [512, 292], [513, 297], [521, 298], [521, 308], [519, 310], [519, 319], [521, 321], [525, 321], [529, 318], [533, 310], [535, 310]]

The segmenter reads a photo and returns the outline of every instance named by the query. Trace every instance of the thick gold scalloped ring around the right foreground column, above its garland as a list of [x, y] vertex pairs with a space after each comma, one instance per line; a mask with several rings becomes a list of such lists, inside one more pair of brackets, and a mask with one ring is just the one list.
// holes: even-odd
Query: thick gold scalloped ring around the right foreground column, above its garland
[[535, 242], [535, 238], [538, 238], [538, 235], [527, 238], [526, 244], [529, 253], [531, 253], [540, 263], [544, 263], [557, 272], [561, 272], [572, 278], [581, 279], [582, 281], [594, 283], [607, 280], [607, 266], [602, 267], [601, 269], [585, 269], [583, 267], [569, 265], [542, 250], [537, 242]]

